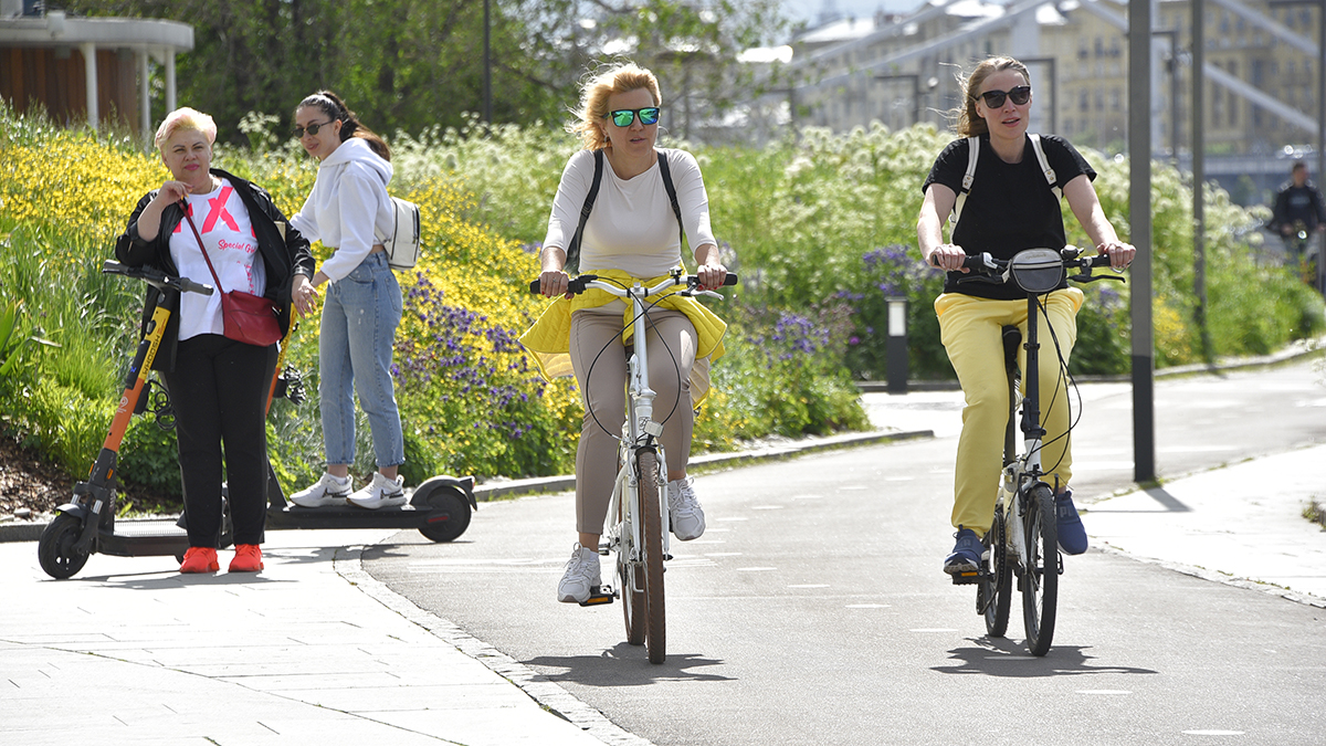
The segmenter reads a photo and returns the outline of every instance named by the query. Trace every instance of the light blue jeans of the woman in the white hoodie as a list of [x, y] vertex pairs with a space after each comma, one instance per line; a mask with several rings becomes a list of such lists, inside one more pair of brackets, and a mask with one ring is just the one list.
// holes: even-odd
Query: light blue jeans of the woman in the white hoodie
[[387, 255], [370, 254], [329, 283], [318, 336], [322, 442], [328, 463], [354, 463], [354, 393], [369, 415], [378, 469], [406, 462], [391, 384], [391, 349], [400, 325], [400, 285]]

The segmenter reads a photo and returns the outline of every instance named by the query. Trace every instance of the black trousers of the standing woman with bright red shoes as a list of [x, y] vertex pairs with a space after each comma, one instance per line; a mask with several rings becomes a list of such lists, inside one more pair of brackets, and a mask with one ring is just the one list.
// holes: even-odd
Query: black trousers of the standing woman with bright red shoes
[[220, 335], [179, 342], [166, 374], [175, 408], [188, 546], [216, 547], [221, 531], [221, 449], [236, 544], [261, 544], [267, 523], [267, 393], [276, 345]]

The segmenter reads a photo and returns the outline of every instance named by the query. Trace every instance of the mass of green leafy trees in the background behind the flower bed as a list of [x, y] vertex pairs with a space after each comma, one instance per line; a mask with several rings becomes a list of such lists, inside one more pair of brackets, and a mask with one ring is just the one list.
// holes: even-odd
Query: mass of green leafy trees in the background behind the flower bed
[[[777, 0], [489, 0], [496, 122], [556, 122], [594, 60], [618, 49], [654, 69], [676, 101], [675, 130], [720, 114], [745, 85], [737, 53], [784, 28]], [[418, 134], [483, 112], [483, 0], [68, 0], [72, 12], [194, 27], [179, 102], [243, 143], [249, 112], [289, 123], [296, 104], [335, 90], [370, 129]], [[670, 92], [670, 93], [667, 93]], [[704, 114], [701, 114], [701, 112]], [[164, 112], [162, 112], [164, 114]]]

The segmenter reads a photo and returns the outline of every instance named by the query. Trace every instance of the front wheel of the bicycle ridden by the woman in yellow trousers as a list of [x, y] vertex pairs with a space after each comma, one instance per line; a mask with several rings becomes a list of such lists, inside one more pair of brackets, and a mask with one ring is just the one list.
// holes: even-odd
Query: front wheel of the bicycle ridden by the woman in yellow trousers
[[1026, 558], [1022, 568], [1022, 621], [1026, 649], [1033, 656], [1050, 652], [1059, 597], [1059, 547], [1054, 523], [1054, 494], [1037, 485], [1026, 494], [1022, 514]]

